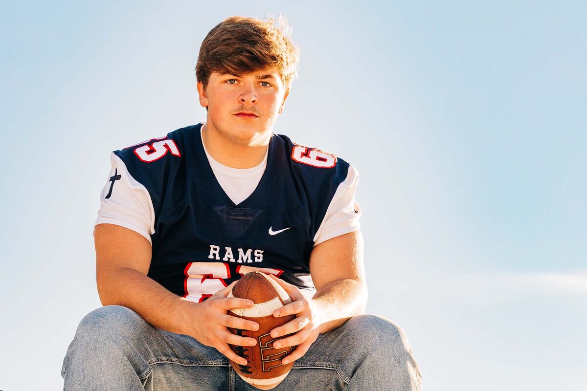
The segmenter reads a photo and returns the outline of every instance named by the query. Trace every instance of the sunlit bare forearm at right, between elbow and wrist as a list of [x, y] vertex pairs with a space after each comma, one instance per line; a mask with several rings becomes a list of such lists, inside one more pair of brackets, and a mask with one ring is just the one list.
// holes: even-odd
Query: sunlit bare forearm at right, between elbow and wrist
[[320, 332], [335, 329], [350, 317], [365, 312], [367, 287], [352, 278], [342, 278], [324, 285], [312, 298], [319, 315]]

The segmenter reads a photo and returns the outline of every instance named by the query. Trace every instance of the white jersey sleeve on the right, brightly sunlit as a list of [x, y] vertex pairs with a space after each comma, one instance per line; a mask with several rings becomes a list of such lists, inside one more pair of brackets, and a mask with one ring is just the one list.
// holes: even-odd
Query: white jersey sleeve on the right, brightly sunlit
[[363, 211], [355, 200], [358, 182], [359, 173], [353, 165], [349, 165], [346, 179], [336, 189], [322, 224], [314, 236], [314, 246], [359, 229], [359, 218]]

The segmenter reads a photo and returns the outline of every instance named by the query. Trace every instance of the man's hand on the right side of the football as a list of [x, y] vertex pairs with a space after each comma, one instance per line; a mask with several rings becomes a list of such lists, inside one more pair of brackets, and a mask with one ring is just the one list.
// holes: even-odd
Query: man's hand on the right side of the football
[[306, 354], [310, 346], [318, 338], [322, 324], [319, 321], [316, 304], [311, 299], [306, 298], [298, 287], [288, 284], [275, 276], [271, 275], [271, 278], [277, 281], [293, 300], [291, 303], [275, 310], [273, 316], [279, 318], [287, 315], [296, 315], [294, 320], [271, 330], [271, 336], [274, 338], [292, 334], [286, 338], [278, 339], [273, 344], [275, 348], [297, 346], [290, 355], [282, 360], [282, 363], [288, 364]]

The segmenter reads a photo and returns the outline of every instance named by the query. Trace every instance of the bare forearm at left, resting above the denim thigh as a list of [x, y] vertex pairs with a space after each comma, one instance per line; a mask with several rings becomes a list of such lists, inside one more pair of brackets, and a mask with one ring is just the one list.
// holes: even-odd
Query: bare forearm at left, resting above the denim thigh
[[122, 305], [137, 312], [158, 329], [187, 334], [185, 316], [198, 304], [171, 293], [152, 278], [129, 267], [120, 267], [97, 278], [102, 305]]

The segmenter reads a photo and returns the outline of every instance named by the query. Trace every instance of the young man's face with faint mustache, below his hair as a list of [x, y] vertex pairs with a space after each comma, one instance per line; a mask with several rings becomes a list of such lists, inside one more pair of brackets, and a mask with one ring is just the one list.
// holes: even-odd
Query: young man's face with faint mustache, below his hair
[[253, 146], [268, 142], [289, 91], [272, 67], [241, 75], [212, 72], [205, 90], [198, 82], [198, 93], [201, 106], [208, 107], [208, 129]]

